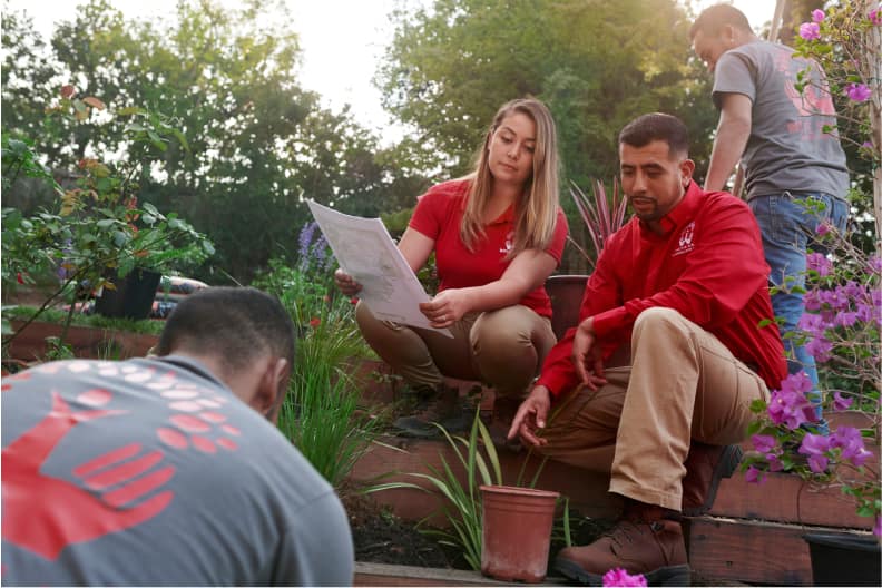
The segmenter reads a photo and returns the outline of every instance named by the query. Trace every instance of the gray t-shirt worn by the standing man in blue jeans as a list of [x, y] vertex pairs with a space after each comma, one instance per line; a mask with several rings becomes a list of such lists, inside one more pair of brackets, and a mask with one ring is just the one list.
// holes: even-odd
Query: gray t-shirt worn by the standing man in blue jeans
[[747, 96], [753, 102], [751, 137], [744, 150], [747, 199], [790, 192], [824, 192], [840, 198], [849, 188], [845, 153], [836, 135], [833, 101], [817, 65], [804, 95], [796, 74], [808, 66], [793, 49], [757, 40], [723, 53], [714, 74], [714, 104], [722, 94]]

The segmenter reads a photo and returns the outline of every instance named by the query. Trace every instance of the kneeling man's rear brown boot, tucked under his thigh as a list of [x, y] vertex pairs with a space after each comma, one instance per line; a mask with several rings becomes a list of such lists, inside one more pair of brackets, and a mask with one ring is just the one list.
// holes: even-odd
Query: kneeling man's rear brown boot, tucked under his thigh
[[698, 517], [710, 510], [719, 480], [732, 477], [743, 455], [738, 445], [708, 445], [693, 441], [683, 478], [683, 513]]

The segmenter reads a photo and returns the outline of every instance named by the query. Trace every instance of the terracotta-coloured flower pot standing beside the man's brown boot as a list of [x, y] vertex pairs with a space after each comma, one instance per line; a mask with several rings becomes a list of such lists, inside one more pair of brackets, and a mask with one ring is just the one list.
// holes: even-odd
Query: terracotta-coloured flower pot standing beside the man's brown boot
[[482, 486], [481, 572], [498, 580], [540, 582], [548, 570], [548, 548], [558, 492]]

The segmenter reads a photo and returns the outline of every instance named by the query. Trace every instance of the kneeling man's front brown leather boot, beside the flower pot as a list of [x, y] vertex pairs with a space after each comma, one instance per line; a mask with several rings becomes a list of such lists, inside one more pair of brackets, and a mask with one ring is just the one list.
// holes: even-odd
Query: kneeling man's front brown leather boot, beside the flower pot
[[588, 586], [602, 586], [604, 575], [614, 568], [643, 574], [649, 586], [689, 586], [689, 565], [679, 522], [623, 519], [594, 543], [568, 547], [555, 559], [555, 569]]

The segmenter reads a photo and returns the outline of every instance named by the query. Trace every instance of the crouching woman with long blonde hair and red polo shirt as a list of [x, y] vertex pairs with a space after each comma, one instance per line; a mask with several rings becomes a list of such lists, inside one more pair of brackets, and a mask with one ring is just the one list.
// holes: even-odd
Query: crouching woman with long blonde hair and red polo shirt
[[[555, 122], [535, 99], [503, 105], [487, 131], [474, 171], [419, 198], [399, 248], [414, 272], [435, 253], [439, 293], [420, 310], [435, 332], [379, 321], [359, 304], [356, 321], [376, 353], [419, 394], [418, 414], [395, 425], [434, 437], [432, 422], [461, 430], [471, 420], [444, 375], [482, 380], [498, 405], [517, 410], [556, 343], [546, 278], [560, 262], [567, 219], [558, 204]], [[361, 286], [337, 271], [337, 287]], [[511, 413], [513, 415], [513, 412]]]

